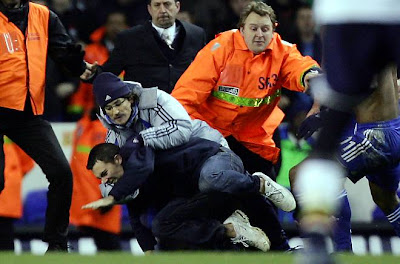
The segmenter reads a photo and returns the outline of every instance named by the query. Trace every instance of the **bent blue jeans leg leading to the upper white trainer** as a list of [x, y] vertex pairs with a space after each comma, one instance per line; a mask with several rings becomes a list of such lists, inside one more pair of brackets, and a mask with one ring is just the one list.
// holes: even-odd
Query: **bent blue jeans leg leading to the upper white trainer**
[[232, 194], [259, 193], [260, 179], [250, 175], [242, 160], [232, 150], [221, 147], [208, 158], [200, 171], [200, 192], [219, 191]]

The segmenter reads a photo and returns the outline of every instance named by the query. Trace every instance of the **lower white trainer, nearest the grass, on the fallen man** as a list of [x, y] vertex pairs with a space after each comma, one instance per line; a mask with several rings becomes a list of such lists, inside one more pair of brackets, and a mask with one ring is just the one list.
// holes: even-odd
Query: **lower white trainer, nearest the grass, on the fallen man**
[[247, 215], [240, 210], [233, 212], [224, 224], [232, 224], [235, 229], [236, 237], [231, 238], [233, 244], [242, 243], [245, 247], [256, 247], [264, 252], [271, 247], [271, 242], [264, 231], [251, 226]]

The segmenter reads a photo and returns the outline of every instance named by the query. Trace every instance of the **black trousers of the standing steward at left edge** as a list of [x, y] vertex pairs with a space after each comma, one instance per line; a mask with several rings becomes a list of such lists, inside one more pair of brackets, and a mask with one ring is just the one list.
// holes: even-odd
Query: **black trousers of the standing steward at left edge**
[[0, 190], [4, 189], [3, 135], [21, 147], [40, 166], [47, 180], [46, 224], [43, 241], [66, 243], [72, 196], [72, 172], [49, 122], [23, 112], [0, 115]]

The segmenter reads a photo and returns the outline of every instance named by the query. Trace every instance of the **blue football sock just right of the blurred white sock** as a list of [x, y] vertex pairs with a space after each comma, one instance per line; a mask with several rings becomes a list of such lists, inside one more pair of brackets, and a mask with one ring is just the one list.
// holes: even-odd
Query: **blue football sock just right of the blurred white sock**
[[340, 210], [336, 213], [336, 225], [332, 234], [333, 246], [336, 252], [352, 251], [351, 244], [351, 209], [347, 192], [340, 194]]

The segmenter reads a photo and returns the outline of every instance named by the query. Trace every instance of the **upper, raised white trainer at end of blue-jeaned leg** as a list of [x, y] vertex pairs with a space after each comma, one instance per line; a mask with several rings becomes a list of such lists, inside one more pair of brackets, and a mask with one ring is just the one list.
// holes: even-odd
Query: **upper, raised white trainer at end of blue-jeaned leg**
[[285, 212], [290, 212], [296, 209], [296, 200], [293, 194], [279, 183], [274, 182], [270, 177], [262, 172], [255, 172], [253, 176], [258, 176], [264, 180], [265, 193], [263, 194], [276, 207]]

